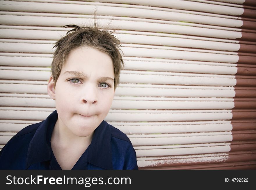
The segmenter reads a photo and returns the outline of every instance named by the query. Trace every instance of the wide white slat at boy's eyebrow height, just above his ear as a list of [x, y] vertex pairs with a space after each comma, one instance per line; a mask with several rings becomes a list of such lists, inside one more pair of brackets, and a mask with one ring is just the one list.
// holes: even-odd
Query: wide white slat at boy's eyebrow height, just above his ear
[[[3, 79], [18, 80], [48, 80], [50, 72], [47, 71], [15, 71], [0, 70]], [[146, 84], [177, 84], [177, 85], [212, 85], [212, 86], [234, 86], [236, 79], [222, 77], [200, 77], [200, 76], [168, 76], [154, 74], [120, 74], [122, 83], [146, 83]]]

